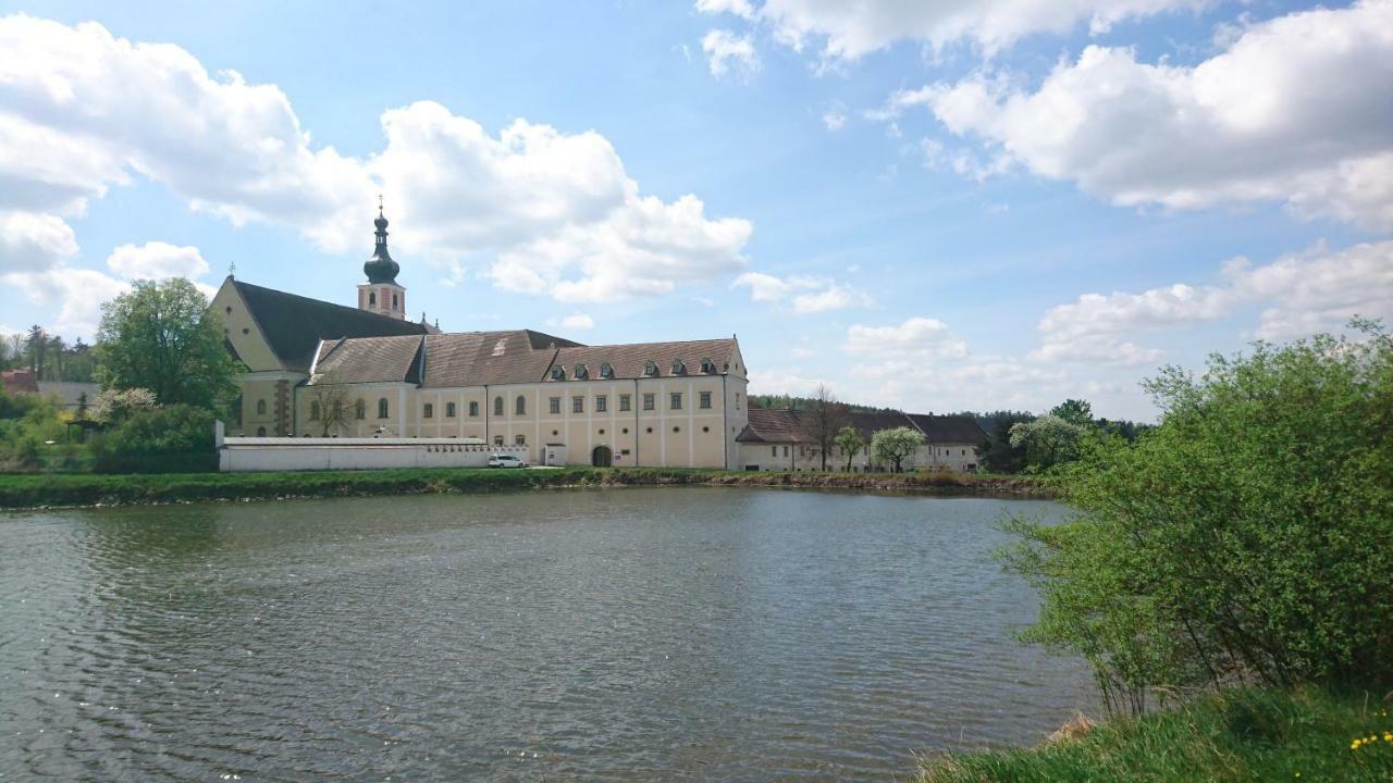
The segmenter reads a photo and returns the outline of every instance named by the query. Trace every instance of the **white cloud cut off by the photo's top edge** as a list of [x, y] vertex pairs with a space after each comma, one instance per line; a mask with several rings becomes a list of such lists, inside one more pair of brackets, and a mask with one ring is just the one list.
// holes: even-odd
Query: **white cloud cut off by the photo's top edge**
[[756, 11], [745, 0], [698, 0], [706, 13], [730, 11], [768, 24], [777, 40], [802, 50], [820, 42], [825, 60], [855, 60], [900, 40], [933, 49], [967, 40], [992, 54], [1035, 33], [1066, 33], [1081, 24], [1106, 32], [1113, 24], [1204, 0], [766, 0]]

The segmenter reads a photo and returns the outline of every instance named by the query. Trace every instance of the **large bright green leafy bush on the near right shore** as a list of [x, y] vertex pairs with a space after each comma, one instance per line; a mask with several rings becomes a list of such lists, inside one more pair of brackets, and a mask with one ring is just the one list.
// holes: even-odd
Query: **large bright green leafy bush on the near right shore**
[[[1015, 520], [1027, 638], [1084, 655], [1114, 709], [1234, 681], [1393, 683], [1393, 340], [1318, 336], [1148, 382], [1162, 425], [1094, 433]], [[1159, 690], [1158, 690], [1159, 688]]]

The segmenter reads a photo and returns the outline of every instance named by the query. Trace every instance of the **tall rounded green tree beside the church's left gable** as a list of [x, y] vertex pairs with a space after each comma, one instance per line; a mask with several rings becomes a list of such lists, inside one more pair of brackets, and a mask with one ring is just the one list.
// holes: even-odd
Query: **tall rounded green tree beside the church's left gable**
[[219, 408], [237, 392], [238, 372], [223, 341], [221, 322], [192, 283], [138, 280], [102, 305], [98, 382], [149, 389], [160, 404]]

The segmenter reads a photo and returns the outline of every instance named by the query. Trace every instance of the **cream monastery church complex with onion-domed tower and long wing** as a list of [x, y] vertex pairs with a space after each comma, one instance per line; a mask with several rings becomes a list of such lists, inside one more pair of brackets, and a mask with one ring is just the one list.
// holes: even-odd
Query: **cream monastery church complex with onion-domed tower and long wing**
[[235, 280], [213, 297], [251, 437], [467, 439], [535, 464], [729, 468], [749, 424], [736, 337], [585, 346], [405, 318], [379, 208], [357, 308]]

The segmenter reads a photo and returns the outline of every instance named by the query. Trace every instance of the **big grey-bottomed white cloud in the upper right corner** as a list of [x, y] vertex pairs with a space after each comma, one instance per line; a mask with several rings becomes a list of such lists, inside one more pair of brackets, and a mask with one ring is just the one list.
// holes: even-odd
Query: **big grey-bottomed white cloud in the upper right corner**
[[897, 93], [954, 134], [1119, 205], [1282, 201], [1393, 228], [1393, 1], [1247, 26], [1195, 67], [1089, 46], [1034, 92], [978, 74]]

